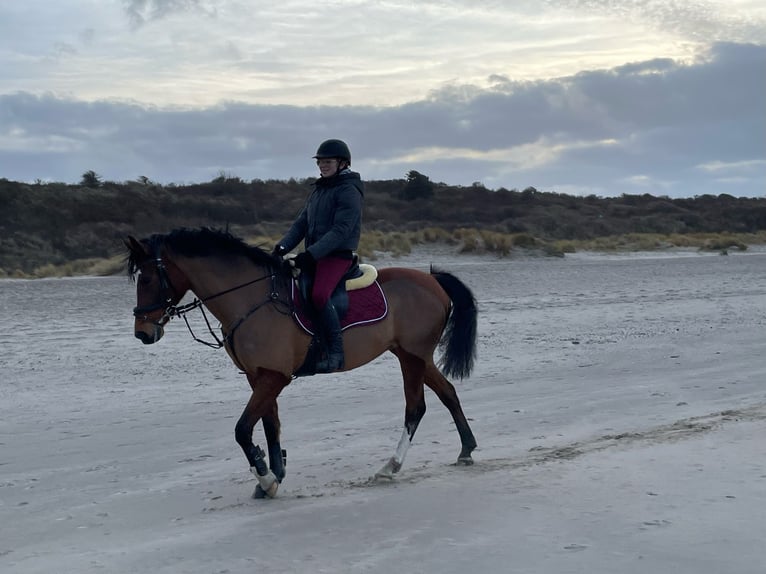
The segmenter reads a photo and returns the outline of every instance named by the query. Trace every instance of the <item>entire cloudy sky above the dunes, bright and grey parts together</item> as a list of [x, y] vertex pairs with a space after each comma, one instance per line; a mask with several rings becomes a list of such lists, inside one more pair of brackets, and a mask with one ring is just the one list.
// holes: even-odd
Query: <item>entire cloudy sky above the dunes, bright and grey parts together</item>
[[766, 0], [0, 3], [0, 178], [766, 194]]

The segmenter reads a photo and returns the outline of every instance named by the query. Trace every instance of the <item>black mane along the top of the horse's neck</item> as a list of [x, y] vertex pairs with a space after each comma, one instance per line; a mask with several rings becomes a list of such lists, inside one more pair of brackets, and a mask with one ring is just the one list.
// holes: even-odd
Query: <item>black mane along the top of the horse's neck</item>
[[[156, 253], [162, 247], [168, 247], [175, 253], [185, 257], [245, 257], [256, 265], [269, 269], [280, 268], [279, 258], [271, 255], [256, 245], [249, 245], [228, 231], [200, 227], [187, 229], [181, 227], [169, 233], [155, 233], [140, 240], [147, 246], [149, 253]], [[136, 253], [129, 249], [126, 260], [128, 275], [133, 277], [138, 271], [139, 264], [146, 259], [145, 253]]]

